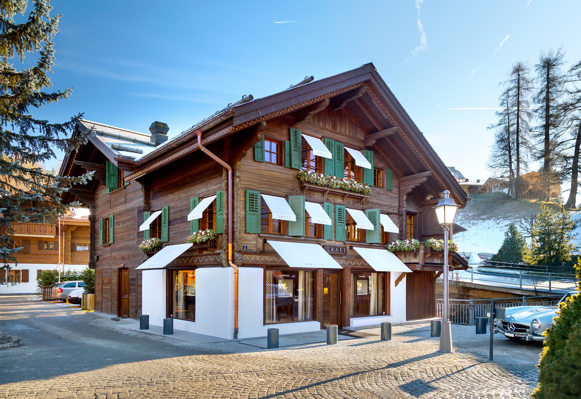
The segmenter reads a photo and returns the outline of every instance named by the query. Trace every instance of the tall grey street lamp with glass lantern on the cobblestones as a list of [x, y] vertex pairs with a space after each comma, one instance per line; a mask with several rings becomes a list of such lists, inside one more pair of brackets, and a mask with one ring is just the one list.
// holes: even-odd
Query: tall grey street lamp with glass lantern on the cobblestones
[[450, 191], [444, 191], [444, 198], [440, 198], [434, 206], [438, 223], [444, 227], [444, 314], [442, 317], [442, 329], [440, 330], [440, 352], [450, 353], [452, 348], [452, 326], [448, 317], [448, 233], [450, 224], [454, 223], [454, 216], [458, 205], [450, 198]]

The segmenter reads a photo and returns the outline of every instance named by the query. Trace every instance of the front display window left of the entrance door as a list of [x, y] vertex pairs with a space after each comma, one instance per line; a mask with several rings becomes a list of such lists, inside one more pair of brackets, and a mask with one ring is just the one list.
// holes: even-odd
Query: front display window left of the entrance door
[[266, 270], [266, 324], [314, 320], [315, 272], [310, 270]]

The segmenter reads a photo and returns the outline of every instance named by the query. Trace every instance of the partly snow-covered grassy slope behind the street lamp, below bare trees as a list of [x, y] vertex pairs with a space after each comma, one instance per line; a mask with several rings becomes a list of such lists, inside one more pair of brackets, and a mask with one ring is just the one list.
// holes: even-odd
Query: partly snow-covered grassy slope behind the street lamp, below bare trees
[[[454, 233], [460, 252], [496, 253], [503, 244], [504, 232], [508, 225], [519, 224], [524, 217], [539, 213], [539, 202], [515, 201], [504, 193], [471, 195], [472, 200], [464, 209], [458, 209], [454, 222], [467, 228], [467, 231]], [[575, 230], [580, 240], [573, 240], [581, 245], [581, 211], [571, 212], [571, 218], [577, 222]]]

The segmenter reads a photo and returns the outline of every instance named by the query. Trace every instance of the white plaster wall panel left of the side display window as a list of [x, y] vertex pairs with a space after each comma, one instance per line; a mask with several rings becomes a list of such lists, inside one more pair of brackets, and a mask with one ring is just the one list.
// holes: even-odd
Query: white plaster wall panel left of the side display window
[[141, 275], [141, 311], [149, 324], [163, 326], [166, 318], [166, 270], [145, 269]]

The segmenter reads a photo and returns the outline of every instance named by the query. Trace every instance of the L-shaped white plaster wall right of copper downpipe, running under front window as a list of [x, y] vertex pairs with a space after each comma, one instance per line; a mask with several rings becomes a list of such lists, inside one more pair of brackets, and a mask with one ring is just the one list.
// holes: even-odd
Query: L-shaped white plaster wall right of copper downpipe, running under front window
[[266, 336], [269, 328], [279, 334], [319, 331], [318, 321], [264, 324], [264, 270], [260, 267], [241, 267], [238, 291], [238, 338]]

